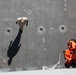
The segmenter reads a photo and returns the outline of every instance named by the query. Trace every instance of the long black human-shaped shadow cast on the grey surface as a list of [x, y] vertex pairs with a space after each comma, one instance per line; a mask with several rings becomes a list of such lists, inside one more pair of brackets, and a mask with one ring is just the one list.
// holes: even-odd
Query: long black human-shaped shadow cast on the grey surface
[[12, 62], [12, 58], [18, 53], [18, 51], [21, 47], [20, 40], [21, 40], [22, 32], [23, 31], [19, 29], [19, 32], [18, 32], [15, 40], [13, 42], [10, 41], [9, 48], [8, 48], [8, 51], [7, 51], [7, 56], [9, 57], [9, 60], [8, 60], [8, 65], [9, 66]]

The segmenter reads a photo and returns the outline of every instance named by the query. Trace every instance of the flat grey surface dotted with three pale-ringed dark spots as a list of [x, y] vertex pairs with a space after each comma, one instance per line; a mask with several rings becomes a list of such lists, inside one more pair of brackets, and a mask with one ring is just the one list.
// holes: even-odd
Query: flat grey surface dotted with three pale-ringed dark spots
[[[29, 19], [29, 25], [24, 27], [22, 46], [8, 66], [6, 53], [18, 33], [16, 19], [22, 16]], [[39, 26], [43, 26], [41, 31]], [[59, 53], [64, 66], [62, 51], [69, 39], [76, 38], [75, 30], [76, 0], [0, 0], [0, 68], [50, 67], [57, 63]]]

